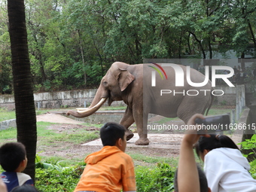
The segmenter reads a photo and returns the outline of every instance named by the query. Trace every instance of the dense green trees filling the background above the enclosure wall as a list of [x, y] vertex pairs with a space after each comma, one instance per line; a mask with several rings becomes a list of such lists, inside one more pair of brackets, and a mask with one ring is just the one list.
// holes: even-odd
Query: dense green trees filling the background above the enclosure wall
[[[214, 51], [235, 50], [241, 56], [253, 55], [256, 49], [256, 2], [252, 0], [25, 3], [35, 91], [98, 87], [113, 61], [211, 59]], [[4, 2], [0, 9], [0, 91], [10, 93], [11, 51]]]

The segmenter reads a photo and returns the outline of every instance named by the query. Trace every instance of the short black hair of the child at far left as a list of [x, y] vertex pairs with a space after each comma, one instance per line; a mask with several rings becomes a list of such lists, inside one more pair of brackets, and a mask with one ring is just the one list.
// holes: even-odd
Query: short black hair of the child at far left
[[26, 148], [20, 142], [8, 142], [0, 148], [0, 164], [7, 172], [14, 172], [26, 159]]

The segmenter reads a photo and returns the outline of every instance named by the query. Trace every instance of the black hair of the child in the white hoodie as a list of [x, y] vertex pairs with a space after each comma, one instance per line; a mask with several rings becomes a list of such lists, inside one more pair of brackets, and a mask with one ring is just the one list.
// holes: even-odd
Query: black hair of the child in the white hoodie
[[215, 148], [234, 148], [238, 149], [237, 145], [233, 142], [230, 137], [225, 135], [215, 135], [215, 134], [209, 134], [210, 137], [204, 137], [201, 136], [198, 142], [195, 145], [197, 156], [200, 157], [200, 153], [203, 153], [203, 151], [209, 150]]

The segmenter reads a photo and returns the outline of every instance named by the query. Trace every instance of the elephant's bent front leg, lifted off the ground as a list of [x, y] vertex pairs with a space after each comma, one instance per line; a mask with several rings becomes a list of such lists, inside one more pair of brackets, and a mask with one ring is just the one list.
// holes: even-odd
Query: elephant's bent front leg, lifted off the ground
[[120, 120], [120, 124], [123, 125], [126, 128], [126, 140], [129, 141], [130, 139], [133, 138], [134, 134], [131, 130], [128, 128], [134, 123], [134, 118], [133, 118], [133, 110], [126, 108], [126, 111], [123, 115], [123, 118]]

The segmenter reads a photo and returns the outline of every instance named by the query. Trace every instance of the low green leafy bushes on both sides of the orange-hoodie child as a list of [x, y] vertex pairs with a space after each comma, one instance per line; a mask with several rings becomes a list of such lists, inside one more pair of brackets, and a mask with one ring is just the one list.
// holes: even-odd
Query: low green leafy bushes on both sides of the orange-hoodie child
[[[84, 166], [62, 167], [59, 162], [37, 163], [35, 171], [35, 185], [44, 192], [70, 192], [78, 184]], [[174, 168], [167, 163], [159, 163], [154, 168], [136, 167], [137, 191], [165, 192], [172, 191]]]

